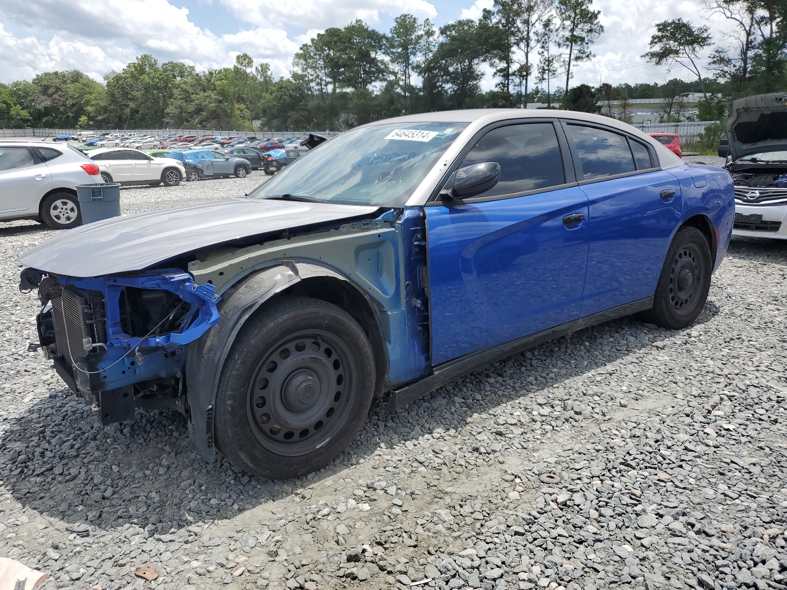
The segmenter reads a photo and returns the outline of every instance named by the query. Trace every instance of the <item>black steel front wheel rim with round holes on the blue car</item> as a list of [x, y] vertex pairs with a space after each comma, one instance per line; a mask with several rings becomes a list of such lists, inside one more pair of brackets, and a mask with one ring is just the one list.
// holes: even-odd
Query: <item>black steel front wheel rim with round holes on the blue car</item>
[[357, 365], [324, 330], [298, 332], [265, 352], [246, 404], [254, 436], [277, 455], [306, 455], [344, 427], [357, 396]]

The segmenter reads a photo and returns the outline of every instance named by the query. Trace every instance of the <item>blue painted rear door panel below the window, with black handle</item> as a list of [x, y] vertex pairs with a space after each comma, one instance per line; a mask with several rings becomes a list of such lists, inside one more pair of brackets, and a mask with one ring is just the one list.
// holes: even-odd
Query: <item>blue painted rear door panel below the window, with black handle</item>
[[[667, 202], [662, 190], [674, 190]], [[651, 297], [682, 216], [682, 190], [667, 171], [582, 186], [589, 199], [590, 247], [582, 316]]]

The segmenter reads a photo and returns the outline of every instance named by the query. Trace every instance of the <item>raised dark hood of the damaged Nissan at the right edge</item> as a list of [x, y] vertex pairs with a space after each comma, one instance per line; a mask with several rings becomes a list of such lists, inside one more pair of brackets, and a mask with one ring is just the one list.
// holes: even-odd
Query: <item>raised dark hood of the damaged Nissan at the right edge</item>
[[787, 150], [787, 92], [739, 98], [730, 107], [727, 135], [733, 160]]

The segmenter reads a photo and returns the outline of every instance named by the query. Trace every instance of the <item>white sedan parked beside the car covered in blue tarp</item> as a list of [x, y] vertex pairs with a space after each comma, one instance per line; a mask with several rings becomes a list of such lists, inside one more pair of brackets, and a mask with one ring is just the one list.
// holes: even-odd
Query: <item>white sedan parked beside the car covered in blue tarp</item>
[[98, 164], [105, 183], [178, 186], [186, 176], [178, 160], [148, 156], [138, 149], [94, 149], [90, 158]]

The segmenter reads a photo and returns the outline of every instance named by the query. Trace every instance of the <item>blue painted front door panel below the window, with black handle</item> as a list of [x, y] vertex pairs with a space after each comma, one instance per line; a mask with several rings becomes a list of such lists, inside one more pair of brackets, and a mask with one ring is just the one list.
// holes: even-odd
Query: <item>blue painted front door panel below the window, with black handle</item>
[[578, 319], [588, 219], [578, 186], [427, 206], [432, 364]]

